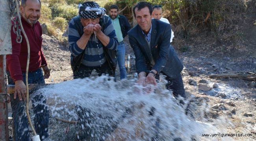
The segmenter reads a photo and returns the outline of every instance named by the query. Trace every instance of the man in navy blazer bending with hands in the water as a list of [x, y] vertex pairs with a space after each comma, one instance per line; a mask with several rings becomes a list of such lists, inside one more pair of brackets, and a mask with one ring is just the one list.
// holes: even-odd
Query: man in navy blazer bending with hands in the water
[[152, 19], [152, 5], [138, 2], [133, 8], [138, 25], [129, 32], [129, 42], [135, 54], [135, 65], [143, 86], [156, 85], [160, 72], [168, 81], [166, 87], [175, 97], [186, 98], [182, 76], [182, 62], [170, 45], [171, 25]]

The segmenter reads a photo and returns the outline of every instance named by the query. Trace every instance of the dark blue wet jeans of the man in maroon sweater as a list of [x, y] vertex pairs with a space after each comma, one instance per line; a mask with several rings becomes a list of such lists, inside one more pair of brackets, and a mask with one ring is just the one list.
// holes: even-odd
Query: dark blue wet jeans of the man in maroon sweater
[[[26, 81], [26, 73], [22, 72], [24, 83]], [[9, 85], [14, 85], [10, 73], [7, 71], [7, 79]], [[37, 71], [28, 72], [28, 83], [29, 84], [45, 84], [43, 71], [38, 69]], [[26, 83], [25, 83], [26, 84]], [[32, 94], [30, 91], [30, 96]], [[11, 108], [13, 117], [13, 140], [14, 141], [28, 141], [29, 140], [29, 130], [28, 130], [28, 118], [26, 114], [26, 101], [20, 101], [17, 96], [14, 99], [14, 94], [11, 96]], [[49, 111], [44, 104], [34, 105], [34, 103], [46, 103], [46, 99], [43, 95], [39, 94], [33, 96], [32, 106], [34, 113], [34, 126], [35, 131], [40, 136], [41, 141], [48, 137], [48, 123], [49, 123]], [[42, 139], [43, 137], [43, 139]]]

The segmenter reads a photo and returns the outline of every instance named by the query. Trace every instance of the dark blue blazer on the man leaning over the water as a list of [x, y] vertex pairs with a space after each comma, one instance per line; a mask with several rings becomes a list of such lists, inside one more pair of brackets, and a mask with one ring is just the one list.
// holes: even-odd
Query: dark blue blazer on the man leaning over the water
[[141, 27], [136, 25], [128, 31], [129, 42], [134, 50], [137, 73], [155, 69], [164, 72], [171, 78], [176, 78], [183, 69], [182, 62], [170, 44], [171, 25], [152, 19], [150, 48], [155, 65], [150, 67], [150, 51]]

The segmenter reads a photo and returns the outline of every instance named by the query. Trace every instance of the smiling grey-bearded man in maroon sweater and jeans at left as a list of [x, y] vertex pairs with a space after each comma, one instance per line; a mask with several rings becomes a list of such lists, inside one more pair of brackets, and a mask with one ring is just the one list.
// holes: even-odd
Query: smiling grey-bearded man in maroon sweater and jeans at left
[[[21, 0], [20, 14], [21, 21], [28, 42], [30, 44], [30, 64], [28, 69], [28, 83], [45, 84], [46, 78], [50, 76], [50, 70], [47, 67], [46, 59], [42, 51], [42, 28], [37, 21], [40, 17], [40, 0]], [[13, 29], [12, 23], [11, 29]], [[26, 112], [26, 63], [28, 58], [27, 43], [23, 33], [22, 42], [17, 43], [17, 35], [11, 30], [11, 42], [13, 54], [6, 56], [8, 83], [15, 84], [15, 94], [11, 94], [11, 107], [13, 112], [13, 140], [28, 141], [28, 119]], [[43, 71], [44, 75], [43, 75]], [[18, 95], [19, 99], [16, 98]], [[40, 103], [40, 104], [35, 104]], [[48, 121], [49, 112], [45, 106], [46, 99], [42, 95], [32, 98], [33, 112], [35, 115], [35, 130], [39, 134], [41, 141], [48, 139]]]

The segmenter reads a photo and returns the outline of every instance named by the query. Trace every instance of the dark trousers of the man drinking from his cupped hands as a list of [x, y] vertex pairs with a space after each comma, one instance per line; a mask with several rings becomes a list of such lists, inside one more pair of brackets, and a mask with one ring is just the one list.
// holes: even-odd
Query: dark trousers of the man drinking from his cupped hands
[[73, 72], [74, 79], [90, 77], [91, 72], [94, 69], [98, 73], [98, 76], [101, 76], [102, 74], [109, 74], [109, 76], [114, 76], [114, 73], [109, 67], [108, 62], [105, 62], [101, 67], [87, 67], [81, 64], [78, 71]]

